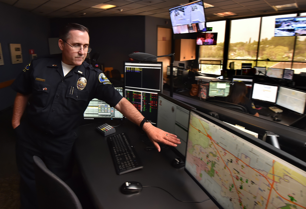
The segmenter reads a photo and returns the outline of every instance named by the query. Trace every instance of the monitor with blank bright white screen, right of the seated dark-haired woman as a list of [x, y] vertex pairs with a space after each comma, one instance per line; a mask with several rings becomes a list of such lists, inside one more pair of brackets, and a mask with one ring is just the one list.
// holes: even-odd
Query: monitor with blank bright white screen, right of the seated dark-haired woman
[[277, 91], [278, 85], [254, 83], [252, 99], [275, 104]]

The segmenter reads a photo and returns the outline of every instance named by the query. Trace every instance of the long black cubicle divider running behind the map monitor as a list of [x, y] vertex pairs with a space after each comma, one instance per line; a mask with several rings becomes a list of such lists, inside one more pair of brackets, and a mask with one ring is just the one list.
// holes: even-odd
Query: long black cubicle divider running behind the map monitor
[[[164, 93], [166, 92], [164, 91]], [[216, 112], [219, 115], [219, 120], [237, 124], [256, 132], [261, 140], [266, 131], [274, 132], [279, 135], [278, 141], [283, 151], [306, 162], [304, 154], [306, 151], [306, 131], [304, 130], [176, 93], [173, 94], [173, 98], [188, 103], [205, 114]]]

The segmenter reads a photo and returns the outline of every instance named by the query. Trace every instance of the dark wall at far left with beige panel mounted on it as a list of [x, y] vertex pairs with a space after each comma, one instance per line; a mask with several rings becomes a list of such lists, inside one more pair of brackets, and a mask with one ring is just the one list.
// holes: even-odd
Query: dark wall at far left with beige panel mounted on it
[[[49, 54], [49, 19], [0, 2], [0, 43], [4, 65], [0, 65], [0, 82], [12, 80], [30, 62], [29, 49], [38, 56]], [[20, 43], [23, 63], [12, 64], [10, 43]], [[15, 92], [10, 88], [0, 89], [0, 110], [13, 105]]]

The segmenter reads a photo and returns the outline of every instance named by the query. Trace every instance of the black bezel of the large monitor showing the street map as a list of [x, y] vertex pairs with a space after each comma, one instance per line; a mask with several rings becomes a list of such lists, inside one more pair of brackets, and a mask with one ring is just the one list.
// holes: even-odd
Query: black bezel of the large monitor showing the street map
[[[268, 144], [266, 142], [264, 142], [263, 140], [260, 140], [250, 134], [247, 134], [239, 129], [233, 128], [230, 125], [211, 117], [210, 115], [204, 114], [198, 110], [190, 110], [190, 113], [193, 112], [197, 115], [199, 115], [200, 117], [214, 123], [215, 125], [220, 126], [222, 129], [225, 129], [226, 131], [229, 131], [233, 134], [235, 134], [236, 136], [246, 140], [247, 142], [254, 144], [255, 146], [269, 152], [272, 155], [275, 155], [276, 157], [292, 164], [293, 166], [296, 166], [297, 168], [303, 170], [306, 172], [306, 162], [297, 159], [296, 157], [289, 155], [288, 153], [286, 153], [285, 151], [282, 151], [274, 146], [272, 146], [271, 144]], [[189, 123], [190, 123], [190, 116], [189, 116]], [[187, 145], [188, 145], [188, 139], [189, 139], [189, 130], [188, 130], [188, 134], [187, 134]], [[187, 151], [187, 147], [186, 147], [186, 151]], [[187, 156], [186, 156], [187, 158]], [[186, 162], [186, 158], [185, 158], [185, 162]], [[200, 188], [207, 194], [207, 196], [218, 206], [218, 208], [223, 208], [218, 202], [217, 200], [200, 184], [199, 181], [196, 180], [195, 177], [193, 177], [193, 175], [186, 169], [186, 164], [184, 167], [185, 172], [192, 178], [192, 180], [195, 181], [195, 183], [197, 185], [200, 186]]]

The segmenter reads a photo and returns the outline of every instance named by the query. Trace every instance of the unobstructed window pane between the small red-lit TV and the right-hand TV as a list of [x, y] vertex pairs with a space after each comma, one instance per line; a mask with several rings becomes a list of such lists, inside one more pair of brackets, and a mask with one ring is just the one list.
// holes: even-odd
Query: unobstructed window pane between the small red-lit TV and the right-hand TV
[[259, 26], [260, 17], [231, 21], [229, 59], [256, 59]]

